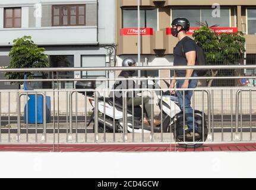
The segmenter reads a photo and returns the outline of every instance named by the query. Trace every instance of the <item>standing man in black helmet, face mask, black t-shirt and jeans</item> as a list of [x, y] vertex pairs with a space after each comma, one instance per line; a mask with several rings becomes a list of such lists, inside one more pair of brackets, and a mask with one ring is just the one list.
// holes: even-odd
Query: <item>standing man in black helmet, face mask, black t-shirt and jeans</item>
[[[196, 62], [196, 45], [194, 40], [189, 38], [186, 32], [189, 30], [190, 24], [186, 18], [176, 18], [172, 21], [172, 35], [178, 37], [179, 42], [173, 49], [175, 66], [193, 66]], [[197, 77], [197, 74], [193, 69], [187, 70], [175, 70], [175, 77]], [[176, 83], [176, 88], [196, 88], [197, 80], [172, 80], [170, 88], [174, 88]], [[173, 93], [173, 91], [171, 91]], [[185, 94], [184, 94], [185, 93]], [[188, 126], [186, 130], [186, 137], [200, 137], [198, 133], [197, 123], [194, 122], [194, 132], [193, 133], [193, 110], [191, 107], [191, 97], [193, 92], [184, 90], [177, 91], [179, 106], [181, 110], [185, 112], [185, 121]]]

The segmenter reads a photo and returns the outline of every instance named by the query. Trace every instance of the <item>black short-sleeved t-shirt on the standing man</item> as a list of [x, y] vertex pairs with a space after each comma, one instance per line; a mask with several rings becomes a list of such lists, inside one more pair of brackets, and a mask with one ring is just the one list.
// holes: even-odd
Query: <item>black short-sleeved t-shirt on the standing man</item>
[[[182, 43], [184, 43], [185, 53], [196, 50], [194, 40], [190, 39], [188, 36], [184, 37], [181, 41], [177, 43], [177, 45], [173, 49], [174, 66], [185, 66], [188, 64], [186, 57], [184, 57], [184, 55], [182, 54]], [[175, 74], [177, 75], [177, 77], [185, 77], [186, 70], [175, 70]]]

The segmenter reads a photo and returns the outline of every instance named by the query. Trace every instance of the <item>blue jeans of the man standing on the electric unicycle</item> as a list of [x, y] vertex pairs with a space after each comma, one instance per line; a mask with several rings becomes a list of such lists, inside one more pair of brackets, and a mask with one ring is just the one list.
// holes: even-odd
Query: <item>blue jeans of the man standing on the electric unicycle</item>
[[[194, 77], [197, 77], [197, 74], [193, 75]], [[184, 80], [177, 80], [176, 82], [176, 88], [181, 88], [182, 84], [184, 83]], [[189, 80], [188, 88], [196, 88], [197, 87], [197, 80]], [[185, 95], [183, 96], [183, 92], [185, 92]], [[179, 107], [182, 111], [185, 109], [185, 122], [188, 125], [188, 132], [193, 131], [193, 109], [191, 107], [191, 97], [193, 94], [193, 91], [186, 90], [186, 91], [176, 91], [176, 94], [178, 96], [178, 102]], [[183, 97], [185, 97], [185, 105]], [[198, 126], [195, 122], [195, 132], [198, 132]]]

